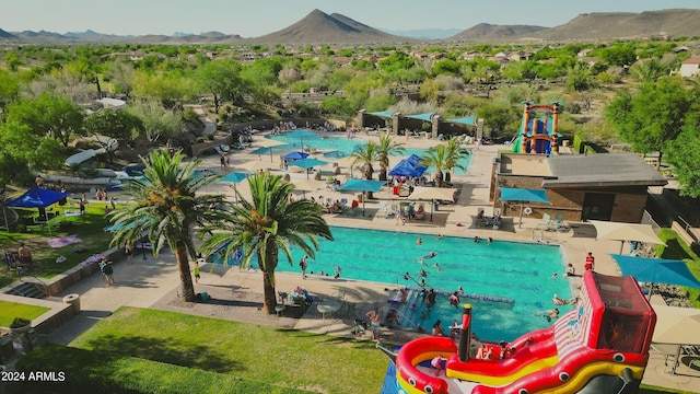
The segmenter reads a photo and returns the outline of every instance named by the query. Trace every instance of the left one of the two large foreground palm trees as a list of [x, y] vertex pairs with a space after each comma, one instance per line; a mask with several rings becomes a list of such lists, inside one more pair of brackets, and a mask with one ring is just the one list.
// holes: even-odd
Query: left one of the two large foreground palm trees
[[121, 246], [147, 233], [158, 256], [167, 243], [175, 254], [180, 279], [180, 298], [195, 301], [195, 288], [189, 271], [189, 257], [195, 258], [192, 225], [206, 225], [220, 219], [212, 206], [224, 204], [223, 196], [196, 195], [199, 189], [217, 181], [219, 176], [197, 176], [201, 163], [192, 160], [180, 169], [184, 155], [177, 152], [153, 151], [142, 160], [145, 169], [142, 179], [130, 179], [124, 189], [133, 204], [124, 205], [110, 213], [118, 230], [112, 245]]

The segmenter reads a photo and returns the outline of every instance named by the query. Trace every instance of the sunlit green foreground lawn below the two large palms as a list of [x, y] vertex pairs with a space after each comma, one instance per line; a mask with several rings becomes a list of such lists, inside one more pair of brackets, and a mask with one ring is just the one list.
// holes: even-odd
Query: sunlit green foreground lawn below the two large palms
[[378, 393], [388, 366], [372, 341], [133, 308], [70, 346], [324, 393]]

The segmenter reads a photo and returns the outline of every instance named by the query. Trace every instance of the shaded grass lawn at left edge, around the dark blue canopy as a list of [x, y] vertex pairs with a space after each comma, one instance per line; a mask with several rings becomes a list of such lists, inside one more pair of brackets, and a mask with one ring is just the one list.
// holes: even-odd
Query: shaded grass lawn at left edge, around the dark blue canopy
[[[75, 210], [77, 208], [71, 208]], [[75, 266], [95, 253], [102, 253], [109, 248], [112, 234], [103, 231], [108, 225], [105, 218], [104, 204], [88, 204], [85, 215], [82, 217], [59, 217], [51, 220], [51, 232], [43, 225], [30, 225], [27, 232], [0, 232], [0, 251], [10, 252], [20, 247], [24, 242], [32, 250], [34, 266], [28, 274], [38, 278], [50, 279], [54, 276]], [[36, 216], [36, 209], [18, 209], [21, 216]], [[58, 223], [65, 224], [59, 228]], [[63, 247], [51, 247], [48, 240], [57, 236], [77, 234], [81, 242]], [[82, 250], [75, 252], [75, 250]], [[56, 258], [67, 257], [63, 263], [56, 263]], [[7, 268], [3, 263], [0, 268], [0, 288], [20, 279], [20, 275]]]

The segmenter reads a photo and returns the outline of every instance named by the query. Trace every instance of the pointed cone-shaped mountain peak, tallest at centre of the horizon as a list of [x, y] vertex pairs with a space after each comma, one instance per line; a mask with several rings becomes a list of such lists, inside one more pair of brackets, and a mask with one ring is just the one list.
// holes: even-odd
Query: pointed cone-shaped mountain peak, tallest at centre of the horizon
[[293, 25], [253, 38], [266, 44], [369, 44], [406, 43], [410, 38], [395, 36], [370, 27], [348, 16], [314, 10]]

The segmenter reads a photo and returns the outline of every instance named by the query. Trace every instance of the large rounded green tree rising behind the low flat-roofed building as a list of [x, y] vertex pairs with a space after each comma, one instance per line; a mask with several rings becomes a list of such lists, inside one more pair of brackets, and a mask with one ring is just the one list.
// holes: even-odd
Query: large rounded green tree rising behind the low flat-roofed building
[[637, 93], [619, 92], [605, 116], [621, 138], [641, 153], [658, 152], [661, 163], [668, 144], [678, 137], [691, 100], [676, 78], [642, 84]]

